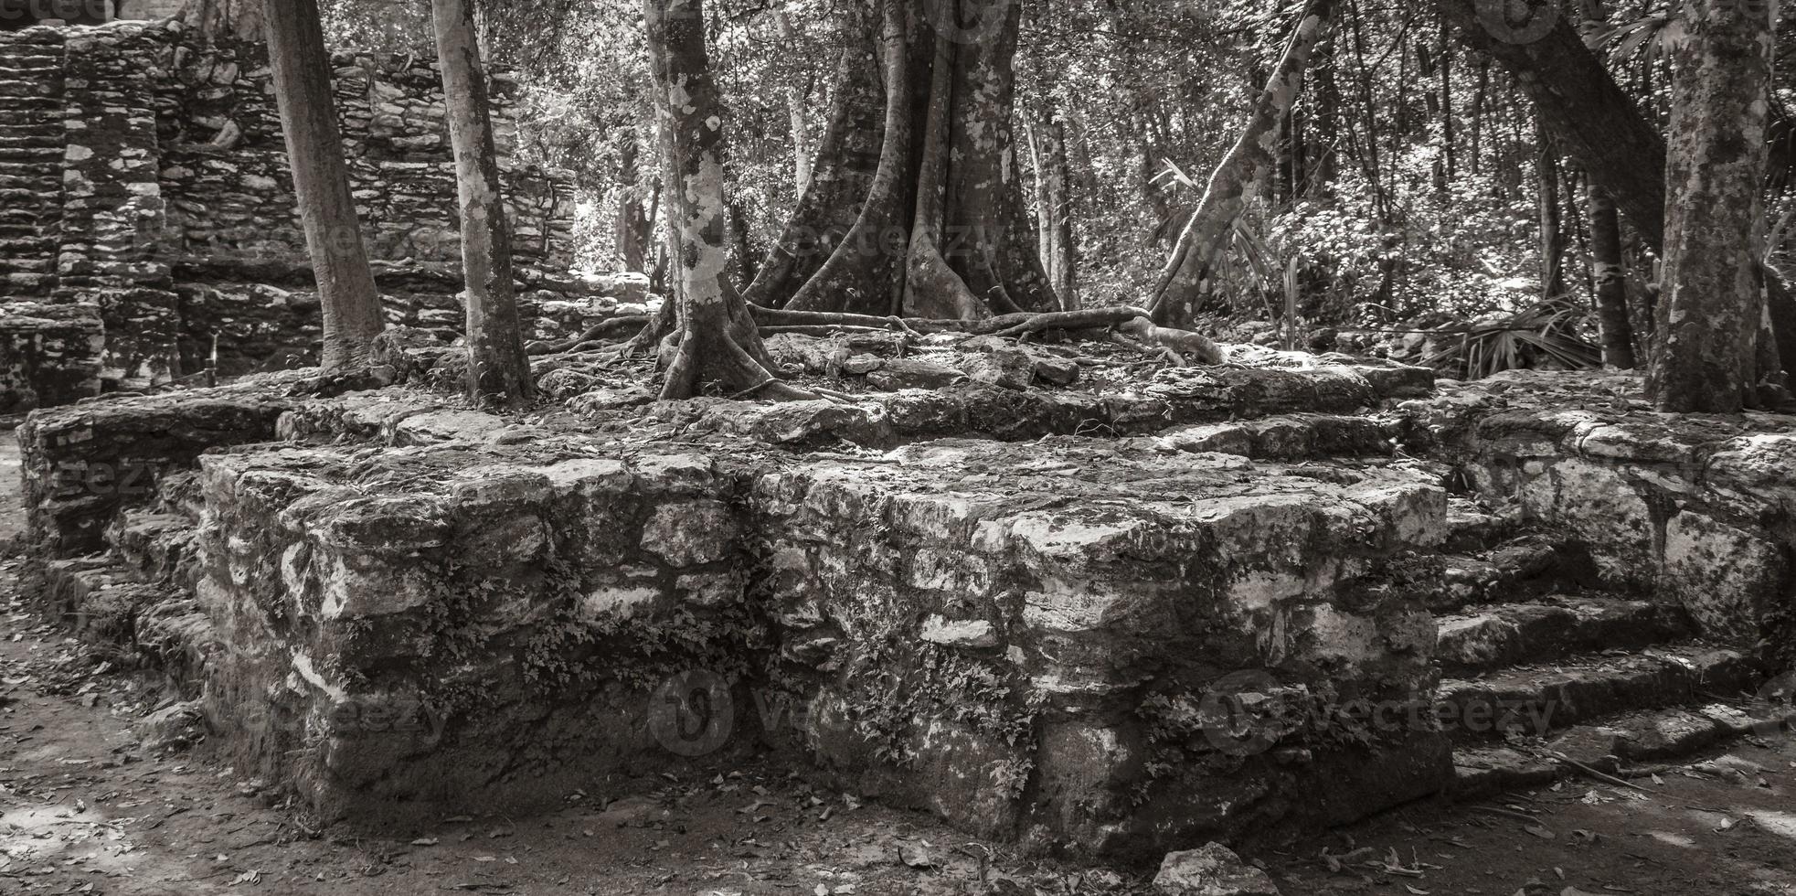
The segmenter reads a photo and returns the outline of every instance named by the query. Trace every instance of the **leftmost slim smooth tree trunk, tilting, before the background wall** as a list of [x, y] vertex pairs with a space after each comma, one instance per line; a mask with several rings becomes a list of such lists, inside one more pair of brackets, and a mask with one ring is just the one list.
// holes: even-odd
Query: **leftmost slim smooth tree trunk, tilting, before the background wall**
[[269, 4], [266, 16], [275, 97], [293, 162], [293, 192], [323, 305], [321, 366], [327, 372], [350, 370], [368, 363], [374, 338], [386, 329], [386, 321], [361, 242], [356, 199], [348, 190], [318, 0]]

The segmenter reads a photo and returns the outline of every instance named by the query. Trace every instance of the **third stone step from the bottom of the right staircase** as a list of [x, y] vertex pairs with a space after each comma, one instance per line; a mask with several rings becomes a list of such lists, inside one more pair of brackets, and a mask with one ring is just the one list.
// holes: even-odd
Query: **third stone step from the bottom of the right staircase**
[[1591, 650], [1640, 650], [1690, 637], [1683, 607], [1609, 596], [1548, 596], [1440, 616], [1435, 661], [1448, 673], [1543, 663]]

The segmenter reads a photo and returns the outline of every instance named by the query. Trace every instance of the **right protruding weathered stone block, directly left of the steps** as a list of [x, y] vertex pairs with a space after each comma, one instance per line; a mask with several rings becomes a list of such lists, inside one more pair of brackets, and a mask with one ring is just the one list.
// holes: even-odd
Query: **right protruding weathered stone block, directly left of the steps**
[[[1363, 808], [1395, 765], [1408, 763], [1406, 797], [1440, 786], [1448, 751], [1430, 725], [1331, 754], [1307, 747], [1333, 725], [1322, 713], [1232, 751], [1175, 709], [1236, 700], [1212, 690], [1230, 672], [1295, 706], [1424, 704], [1433, 627], [1419, 593], [1360, 585], [1439, 539], [1446, 503], [1424, 478], [1320, 483], [1083, 440], [934, 442], [891, 458], [754, 487], [776, 521], [770, 584], [790, 594], [781, 625], [828, 645], [826, 661], [799, 654], [788, 670], [821, 688], [794, 736], [850, 786], [988, 833], [1131, 855], [1311, 812], [1272, 797], [1311, 776], [1329, 779], [1315, 812], [1331, 817]], [[1309, 765], [1270, 760], [1297, 743]], [[1178, 772], [1151, 772], [1149, 758]], [[1381, 772], [1347, 772], [1360, 763]]]

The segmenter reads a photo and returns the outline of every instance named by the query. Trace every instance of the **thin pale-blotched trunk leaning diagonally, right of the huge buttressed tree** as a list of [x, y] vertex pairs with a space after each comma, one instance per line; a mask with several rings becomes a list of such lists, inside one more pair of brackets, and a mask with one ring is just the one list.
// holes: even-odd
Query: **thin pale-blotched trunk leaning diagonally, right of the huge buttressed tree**
[[1160, 273], [1149, 309], [1162, 325], [1184, 325], [1198, 302], [1198, 291], [1221, 251], [1246, 203], [1259, 196], [1263, 185], [1277, 176], [1279, 122], [1291, 113], [1297, 92], [1304, 84], [1309, 56], [1329, 22], [1329, 0], [1311, 0], [1297, 23], [1297, 32], [1279, 59], [1266, 90], [1254, 104], [1246, 129], [1234, 149], [1223, 156], [1211, 174], [1196, 214], [1173, 248], [1173, 257]]

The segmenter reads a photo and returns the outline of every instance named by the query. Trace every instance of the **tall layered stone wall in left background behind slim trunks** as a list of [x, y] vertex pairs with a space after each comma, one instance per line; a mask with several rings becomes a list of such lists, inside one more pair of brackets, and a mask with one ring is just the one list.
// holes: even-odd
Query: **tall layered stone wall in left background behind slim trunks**
[[[332, 61], [388, 316], [453, 329], [460, 224], [435, 63]], [[99, 309], [110, 381], [194, 373], [214, 345], [224, 373], [309, 357], [318, 302], [269, 77], [262, 45], [169, 22], [0, 34], [0, 303]], [[566, 282], [573, 189], [510, 160], [517, 86], [505, 72], [492, 86], [519, 282]]]

